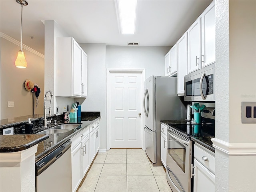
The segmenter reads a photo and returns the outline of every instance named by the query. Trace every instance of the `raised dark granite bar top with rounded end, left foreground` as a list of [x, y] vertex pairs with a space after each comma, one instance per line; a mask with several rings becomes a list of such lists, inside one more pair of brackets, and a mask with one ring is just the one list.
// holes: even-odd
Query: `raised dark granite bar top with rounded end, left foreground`
[[0, 135], [0, 152], [22, 151], [48, 138], [47, 134]]

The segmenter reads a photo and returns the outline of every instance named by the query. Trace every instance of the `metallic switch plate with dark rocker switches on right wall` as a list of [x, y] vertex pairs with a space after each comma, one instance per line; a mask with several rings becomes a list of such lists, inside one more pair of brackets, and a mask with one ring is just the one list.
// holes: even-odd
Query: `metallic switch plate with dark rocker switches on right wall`
[[242, 123], [256, 124], [256, 114], [254, 114], [254, 107], [256, 107], [256, 102], [242, 102]]

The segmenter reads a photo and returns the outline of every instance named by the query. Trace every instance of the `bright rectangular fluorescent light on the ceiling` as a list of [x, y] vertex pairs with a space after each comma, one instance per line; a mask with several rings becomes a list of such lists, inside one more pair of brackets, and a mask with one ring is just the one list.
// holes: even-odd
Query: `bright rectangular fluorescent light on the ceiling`
[[118, 0], [122, 34], [135, 33], [137, 0]]

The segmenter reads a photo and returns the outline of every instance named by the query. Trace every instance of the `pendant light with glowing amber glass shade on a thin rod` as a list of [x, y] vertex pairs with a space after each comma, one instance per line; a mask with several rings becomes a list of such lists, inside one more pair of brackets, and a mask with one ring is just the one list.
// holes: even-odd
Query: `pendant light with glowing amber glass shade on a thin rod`
[[21, 26], [20, 26], [20, 50], [15, 60], [15, 66], [18, 68], [26, 68], [27, 61], [25, 59], [24, 52], [22, 51], [22, 8], [23, 6], [28, 5], [28, 2], [26, 0], [16, 0], [16, 2], [21, 5]]

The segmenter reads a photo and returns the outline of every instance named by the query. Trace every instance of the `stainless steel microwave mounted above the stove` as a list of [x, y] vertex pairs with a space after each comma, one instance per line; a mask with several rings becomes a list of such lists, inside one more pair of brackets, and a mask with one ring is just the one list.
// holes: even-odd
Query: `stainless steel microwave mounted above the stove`
[[215, 101], [215, 63], [184, 77], [186, 101]]

